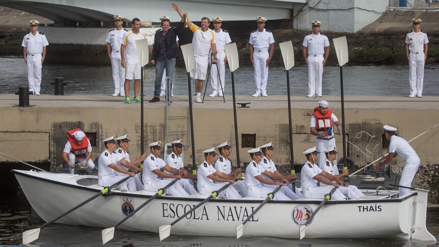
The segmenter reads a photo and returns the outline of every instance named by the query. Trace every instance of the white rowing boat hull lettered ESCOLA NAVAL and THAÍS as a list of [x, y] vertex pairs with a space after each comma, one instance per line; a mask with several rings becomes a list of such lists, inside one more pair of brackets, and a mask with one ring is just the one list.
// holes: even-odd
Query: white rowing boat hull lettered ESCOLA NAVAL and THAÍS
[[[99, 193], [97, 176], [12, 171], [26, 198], [46, 222]], [[328, 201], [307, 226], [306, 237], [367, 238], [399, 236], [436, 241], [425, 226], [428, 190], [416, 189], [402, 198], [395, 190], [362, 190], [357, 200]], [[120, 222], [155, 193], [127, 193], [112, 190], [62, 217], [56, 223], [107, 228]], [[190, 198], [160, 196], [127, 219], [119, 228], [158, 232], [200, 203], [206, 196]], [[236, 236], [241, 224], [262, 202], [212, 199], [172, 227], [172, 234]], [[244, 226], [244, 236], [299, 238], [305, 224], [321, 200], [270, 201]]]

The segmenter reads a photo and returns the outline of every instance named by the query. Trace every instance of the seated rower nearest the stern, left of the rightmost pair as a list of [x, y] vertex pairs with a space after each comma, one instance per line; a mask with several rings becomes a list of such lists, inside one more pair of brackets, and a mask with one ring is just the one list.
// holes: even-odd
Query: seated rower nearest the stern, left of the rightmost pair
[[[323, 199], [326, 194], [329, 194], [332, 190], [331, 186], [340, 187], [339, 183], [343, 183], [342, 177], [347, 175], [347, 170], [342, 174], [333, 176], [327, 172], [322, 171], [316, 164], [318, 149], [316, 147], [310, 148], [304, 152], [307, 157], [307, 162], [304, 164], [301, 174], [301, 186], [302, 193], [306, 198]], [[317, 181], [320, 184], [327, 184], [331, 186], [317, 186]], [[337, 181], [333, 183], [331, 181]], [[336, 189], [331, 196], [334, 200], [345, 200], [346, 197], [340, 190]]]

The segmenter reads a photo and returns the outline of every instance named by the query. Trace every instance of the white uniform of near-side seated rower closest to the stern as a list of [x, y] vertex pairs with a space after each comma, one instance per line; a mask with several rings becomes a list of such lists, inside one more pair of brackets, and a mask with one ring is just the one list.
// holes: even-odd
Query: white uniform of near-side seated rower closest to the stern
[[[323, 199], [324, 196], [329, 194], [333, 189], [332, 187], [317, 186], [317, 180], [313, 178], [315, 176], [320, 176], [320, 173], [322, 173], [322, 170], [317, 166], [317, 164], [311, 164], [310, 161], [307, 160], [300, 172], [301, 189], [306, 198]], [[336, 189], [332, 194], [331, 199], [344, 200], [346, 197], [339, 189]]]

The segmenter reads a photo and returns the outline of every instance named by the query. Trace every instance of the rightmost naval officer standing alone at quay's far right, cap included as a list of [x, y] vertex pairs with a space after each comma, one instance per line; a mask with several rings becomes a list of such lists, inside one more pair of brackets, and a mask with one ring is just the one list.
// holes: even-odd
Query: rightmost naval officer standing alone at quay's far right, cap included
[[422, 20], [411, 19], [413, 30], [407, 31], [405, 36], [405, 53], [408, 60], [408, 82], [410, 83], [410, 95], [408, 97], [422, 98], [424, 85], [424, 65], [427, 61], [428, 38], [427, 32], [421, 30]]

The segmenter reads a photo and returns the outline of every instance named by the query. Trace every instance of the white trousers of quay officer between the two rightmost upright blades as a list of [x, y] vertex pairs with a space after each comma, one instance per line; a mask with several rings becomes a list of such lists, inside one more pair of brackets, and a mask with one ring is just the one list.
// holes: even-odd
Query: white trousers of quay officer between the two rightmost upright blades
[[[322, 94], [323, 55], [308, 55], [308, 94]], [[323, 151], [323, 150], [322, 150]]]

